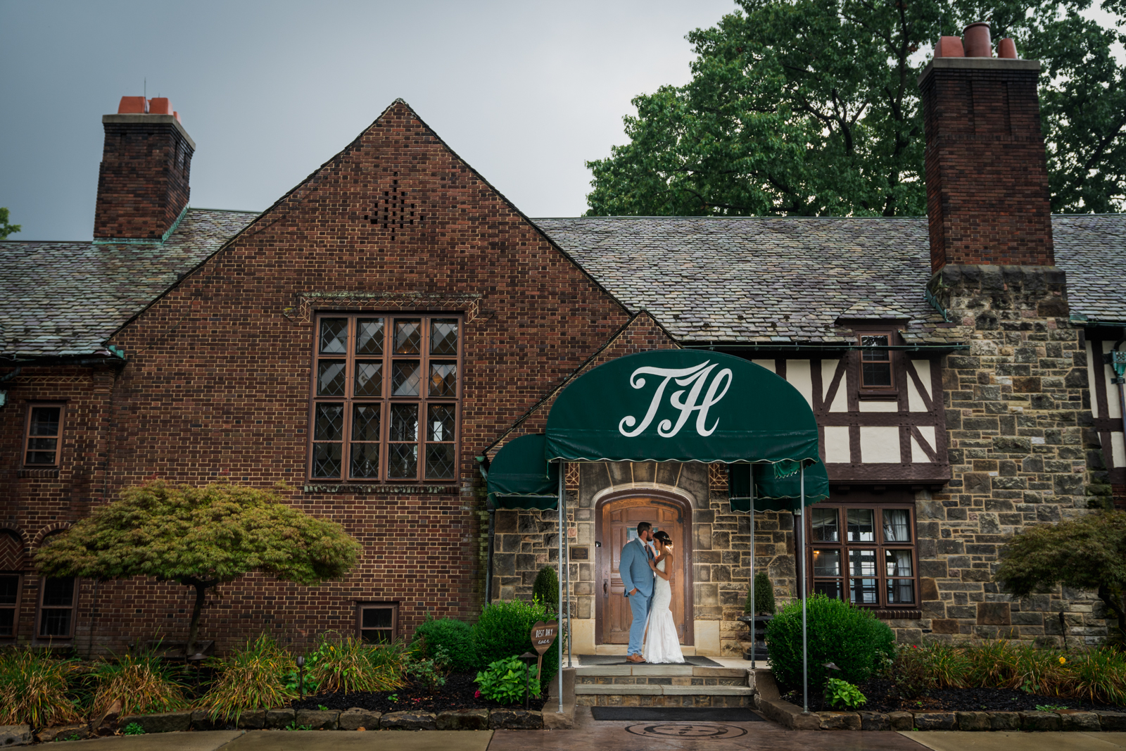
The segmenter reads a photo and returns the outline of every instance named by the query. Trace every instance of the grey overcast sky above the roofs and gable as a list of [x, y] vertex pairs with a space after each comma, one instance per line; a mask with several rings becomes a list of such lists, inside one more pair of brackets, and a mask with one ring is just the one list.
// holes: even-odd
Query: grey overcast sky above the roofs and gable
[[193, 206], [266, 208], [402, 97], [526, 214], [577, 216], [629, 100], [685, 83], [685, 35], [733, 9], [0, 0], [0, 206], [11, 240], [89, 239], [101, 115], [148, 79], [196, 142]]

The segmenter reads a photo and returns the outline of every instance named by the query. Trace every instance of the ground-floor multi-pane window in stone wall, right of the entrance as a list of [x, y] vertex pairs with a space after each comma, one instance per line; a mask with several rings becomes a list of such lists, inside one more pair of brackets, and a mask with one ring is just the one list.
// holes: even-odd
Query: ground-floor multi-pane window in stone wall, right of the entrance
[[819, 503], [807, 516], [814, 592], [870, 607], [919, 605], [910, 507]]

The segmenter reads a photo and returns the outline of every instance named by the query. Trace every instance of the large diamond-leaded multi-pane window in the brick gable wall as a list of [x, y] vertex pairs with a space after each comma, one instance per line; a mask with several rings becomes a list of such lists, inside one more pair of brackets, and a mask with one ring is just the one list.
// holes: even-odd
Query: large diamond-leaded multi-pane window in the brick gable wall
[[458, 319], [327, 313], [315, 346], [312, 477], [455, 480]]

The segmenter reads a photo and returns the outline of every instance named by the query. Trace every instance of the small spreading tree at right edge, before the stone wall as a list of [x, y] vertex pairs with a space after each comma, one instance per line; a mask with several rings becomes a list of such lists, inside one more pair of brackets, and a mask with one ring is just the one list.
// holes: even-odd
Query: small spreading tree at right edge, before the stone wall
[[1013, 597], [1058, 584], [1096, 591], [1118, 619], [1118, 638], [1126, 642], [1126, 511], [1098, 511], [1026, 529], [1002, 548], [993, 578]]

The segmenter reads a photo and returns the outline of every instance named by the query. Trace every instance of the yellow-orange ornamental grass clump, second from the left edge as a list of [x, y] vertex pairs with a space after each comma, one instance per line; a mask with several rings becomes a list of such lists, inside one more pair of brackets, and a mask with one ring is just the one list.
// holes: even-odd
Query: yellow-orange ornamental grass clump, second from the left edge
[[95, 665], [92, 714], [106, 712], [117, 700], [122, 715], [176, 712], [188, 706], [177, 671], [161, 659], [159, 650], [158, 642]]

